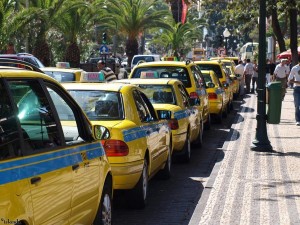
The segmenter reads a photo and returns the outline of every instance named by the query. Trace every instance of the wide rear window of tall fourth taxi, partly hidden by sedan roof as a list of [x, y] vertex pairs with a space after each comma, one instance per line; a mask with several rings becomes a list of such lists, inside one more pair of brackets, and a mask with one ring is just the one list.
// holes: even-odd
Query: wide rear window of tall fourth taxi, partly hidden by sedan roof
[[132, 78], [143, 78], [144, 74], [156, 74], [156, 78], [175, 78], [180, 80], [186, 88], [192, 86], [188, 71], [184, 67], [140, 67], [133, 71]]

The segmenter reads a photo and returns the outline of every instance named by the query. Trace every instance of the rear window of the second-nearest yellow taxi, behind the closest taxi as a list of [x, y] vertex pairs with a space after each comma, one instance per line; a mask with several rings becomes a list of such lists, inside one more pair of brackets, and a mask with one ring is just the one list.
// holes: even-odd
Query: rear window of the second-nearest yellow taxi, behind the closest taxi
[[69, 90], [91, 121], [124, 119], [119, 92], [102, 90]]

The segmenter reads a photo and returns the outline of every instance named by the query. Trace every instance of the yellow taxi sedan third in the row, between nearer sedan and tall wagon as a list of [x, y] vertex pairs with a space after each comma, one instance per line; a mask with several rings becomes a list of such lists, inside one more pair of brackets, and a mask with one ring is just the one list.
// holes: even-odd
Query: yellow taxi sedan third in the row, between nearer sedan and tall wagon
[[149, 98], [160, 117], [169, 119], [173, 154], [188, 162], [191, 143], [201, 147], [203, 124], [201, 113], [190, 104], [189, 94], [177, 79], [127, 79], [114, 82], [137, 85]]

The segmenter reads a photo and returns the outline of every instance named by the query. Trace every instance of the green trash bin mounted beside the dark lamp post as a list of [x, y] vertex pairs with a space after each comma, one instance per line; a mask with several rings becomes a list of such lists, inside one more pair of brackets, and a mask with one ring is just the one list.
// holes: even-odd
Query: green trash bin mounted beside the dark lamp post
[[267, 122], [270, 124], [279, 124], [282, 105], [282, 87], [280, 81], [271, 82], [267, 86], [268, 91], [268, 110]]

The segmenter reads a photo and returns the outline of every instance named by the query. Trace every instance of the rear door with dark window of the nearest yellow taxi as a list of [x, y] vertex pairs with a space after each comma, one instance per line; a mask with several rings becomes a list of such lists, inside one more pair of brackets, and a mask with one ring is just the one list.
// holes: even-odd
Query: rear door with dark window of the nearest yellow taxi
[[63, 149], [61, 127], [41, 83], [8, 80], [28, 143], [24, 161], [35, 224], [68, 224], [71, 213], [73, 156]]

